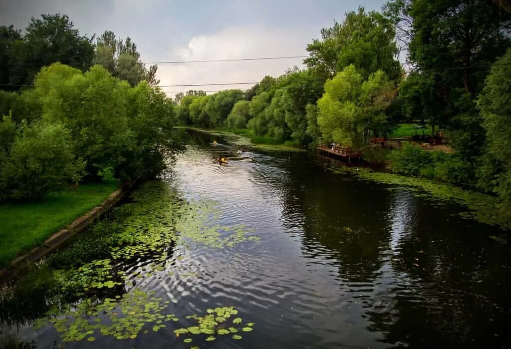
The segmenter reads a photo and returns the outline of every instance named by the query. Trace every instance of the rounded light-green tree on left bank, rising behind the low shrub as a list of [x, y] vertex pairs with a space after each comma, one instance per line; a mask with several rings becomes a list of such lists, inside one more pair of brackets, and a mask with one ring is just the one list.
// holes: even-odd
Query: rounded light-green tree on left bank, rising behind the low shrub
[[42, 119], [69, 129], [89, 178], [100, 178], [123, 160], [133, 136], [128, 128], [127, 82], [113, 78], [100, 65], [83, 74], [55, 63], [41, 69], [34, 85]]

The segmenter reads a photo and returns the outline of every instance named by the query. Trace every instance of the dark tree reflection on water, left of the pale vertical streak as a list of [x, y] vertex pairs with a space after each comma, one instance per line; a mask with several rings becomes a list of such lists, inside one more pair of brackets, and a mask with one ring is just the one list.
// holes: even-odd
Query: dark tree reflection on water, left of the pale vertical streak
[[[303, 249], [307, 255], [321, 255], [339, 267], [342, 280], [373, 282], [382, 262], [381, 241], [387, 191], [377, 191], [364, 182], [317, 171], [295, 155], [292, 179], [284, 205], [284, 220], [303, 217]], [[286, 218], [289, 217], [289, 218]], [[318, 249], [317, 243], [325, 248]]]

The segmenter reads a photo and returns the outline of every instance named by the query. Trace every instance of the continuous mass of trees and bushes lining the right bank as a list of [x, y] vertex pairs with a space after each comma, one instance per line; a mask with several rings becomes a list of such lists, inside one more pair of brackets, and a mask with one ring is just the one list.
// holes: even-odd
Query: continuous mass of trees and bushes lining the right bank
[[[374, 164], [498, 193], [511, 206], [511, 53], [499, 59], [510, 34], [511, 11], [501, 2], [391, 0], [381, 13], [359, 8], [307, 46], [306, 69], [265, 77], [220, 118], [210, 113], [219, 94], [176, 96], [178, 119], [244, 129], [261, 143], [359, 148]], [[386, 151], [368, 147], [400, 122], [428, 124], [432, 136], [441, 129], [454, 154], [405, 147], [387, 160]]]

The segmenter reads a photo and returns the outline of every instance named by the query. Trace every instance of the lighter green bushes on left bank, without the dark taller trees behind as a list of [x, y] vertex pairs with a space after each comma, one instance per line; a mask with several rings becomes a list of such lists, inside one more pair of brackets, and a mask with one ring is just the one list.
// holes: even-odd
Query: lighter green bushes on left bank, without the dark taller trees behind
[[[3, 200], [39, 199], [106, 172], [122, 181], [154, 176], [180, 149], [164, 92], [145, 81], [130, 87], [100, 65], [82, 73], [55, 63], [32, 89], [9, 93], [17, 118], [0, 123]], [[34, 101], [28, 120], [18, 106], [26, 95]]]

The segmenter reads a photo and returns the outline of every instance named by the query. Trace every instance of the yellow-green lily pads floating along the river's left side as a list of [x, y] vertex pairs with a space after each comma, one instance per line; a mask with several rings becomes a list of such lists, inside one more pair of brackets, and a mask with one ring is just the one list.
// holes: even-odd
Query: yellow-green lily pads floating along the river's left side
[[[199, 277], [195, 271], [174, 273], [167, 270], [170, 265], [176, 268], [171, 257], [177, 245], [193, 243], [194, 246], [224, 248], [258, 240], [257, 236], [251, 235], [253, 229], [245, 225], [219, 224], [219, 214], [220, 209], [215, 201], [185, 201], [168, 184], [144, 184], [134, 193], [132, 202], [121, 206], [113, 214], [115, 229], [108, 230], [109, 239], [106, 240], [110, 244], [109, 251], [101, 254], [108, 258], [92, 260], [78, 268], [53, 271], [60, 284], [74, 285], [74, 289], [80, 291], [76, 293], [77, 297], [86, 298], [63, 310], [52, 308], [37, 321], [36, 327], [53, 325], [62, 334], [63, 341], [95, 341], [101, 335], [133, 339], [141, 333], [165, 328], [165, 322], [178, 321], [174, 315], [163, 315], [166, 305], [170, 303], [168, 300], [162, 302], [161, 298], [140, 289], [122, 296], [112, 294], [119, 291], [117, 286], [159, 272], [183, 278]], [[94, 248], [94, 244], [89, 246]], [[103, 244], [101, 247], [105, 248]], [[70, 250], [73, 250], [73, 246]], [[183, 257], [176, 255], [175, 259]], [[104, 298], [105, 294], [108, 297]], [[238, 330], [246, 331], [234, 327], [239, 324], [237, 319], [229, 326], [224, 325], [231, 315], [237, 313], [234, 308], [216, 308], [212, 311], [214, 316], [208, 313], [201, 318], [195, 315], [190, 317], [197, 319], [201, 332], [211, 332], [206, 340], [211, 341], [217, 335]], [[247, 325], [245, 328], [251, 327]]]

